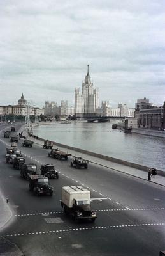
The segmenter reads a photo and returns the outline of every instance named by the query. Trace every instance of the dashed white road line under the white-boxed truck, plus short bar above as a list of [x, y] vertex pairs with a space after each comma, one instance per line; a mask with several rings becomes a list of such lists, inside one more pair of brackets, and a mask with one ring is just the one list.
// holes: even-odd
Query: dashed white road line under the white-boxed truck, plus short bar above
[[[106, 198], [92, 198], [92, 200], [104, 200]], [[124, 209], [96, 209], [96, 212], [105, 212], [105, 211], [163, 211], [165, 208], [128, 208], [125, 207]], [[44, 216], [45, 214], [62, 214], [63, 211], [56, 211], [56, 212], [37, 212], [37, 213], [28, 213], [28, 214], [15, 214], [15, 217], [25, 217], [25, 216], [36, 216], [41, 215]]]

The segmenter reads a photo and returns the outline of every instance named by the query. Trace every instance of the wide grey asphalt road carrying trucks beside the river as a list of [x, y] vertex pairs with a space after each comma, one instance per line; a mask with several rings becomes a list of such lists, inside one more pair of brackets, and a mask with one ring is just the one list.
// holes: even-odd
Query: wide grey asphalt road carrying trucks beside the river
[[[4, 141], [4, 142], [3, 142]], [[54, 195], [36, 197], [29, 192], [20, 171], [5, 163], [6, 144], [0, 138], [0, 185], [9, 198], [14, 218], [1, 236], [16, 243], [25, 256], [47, 255], [159, 255], [165, 249], [165, 188], [148, 180], [89, 164], [87, 170], [71, 168], [70, 160], [50, 159], [39, 145], [18, 147], [26, 163], [53, 163], [59, 180], [50, 180]], [[62, 186], [89, 188], [95, 223], [75, 223], [64, 216]]]

